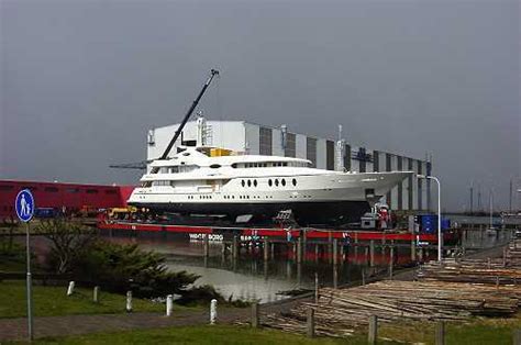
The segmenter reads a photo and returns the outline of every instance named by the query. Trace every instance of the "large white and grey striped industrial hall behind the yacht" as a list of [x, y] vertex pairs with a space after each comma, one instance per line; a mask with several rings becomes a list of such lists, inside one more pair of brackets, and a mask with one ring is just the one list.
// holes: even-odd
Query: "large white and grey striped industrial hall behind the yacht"
[[[157, 159], [179, 124], [156, 127], [147, 134], [147, 160]], [[232, 149], [237, 154], [273, 155], [307, 158], [317, 168], [328, 170], [369, 171], [414, 171], [431, 175], [432, 165], [424, 159], [404, 157], [383, 149], [372, 149], [331, 140], [299, 134], [287, 125], [273, 127], [246, 121], [207, 121], [198, 118], [188, 122], [180, 140], [174, 146], [215, 146]], [[381, 202], [393, 210], [430, 210], [430, 180], [415, 176], [395, 187]]]

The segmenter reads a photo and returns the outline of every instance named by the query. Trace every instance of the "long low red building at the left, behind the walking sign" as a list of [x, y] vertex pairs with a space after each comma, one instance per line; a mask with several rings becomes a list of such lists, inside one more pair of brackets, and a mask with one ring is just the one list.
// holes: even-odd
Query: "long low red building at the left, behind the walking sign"
[[14, 199], [22, 189], [30, 189], [36, 210], [65, 210], [67, 213], [126, 207], [133, 186], [78, 185], [0, 180], [0, 220], [16, 218]]

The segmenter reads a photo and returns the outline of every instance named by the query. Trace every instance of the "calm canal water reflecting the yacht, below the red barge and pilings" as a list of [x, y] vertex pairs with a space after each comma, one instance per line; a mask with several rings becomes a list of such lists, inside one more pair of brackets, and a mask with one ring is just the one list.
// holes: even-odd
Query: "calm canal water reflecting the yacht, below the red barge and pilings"
[[[468, 231], [463, 236], [467, 249], [477, 249], [506, 243], [511, 232], [498, 232], [498, 236]], [[321, 285], [342, 286], [367, 279], [389, 268], [390, 249], [377, 244], [374, 265], [370, 266], [369, 248], [340, 246], [337, 264], [333, 264], [332, 252], [326, 244], [308, 243], [301, 263], [298, 263], [293, 245], [275, 244], [268, 259], [264, 259], [260, 244], [242, 246], [236, 259], [223, 253], [221, 242], [209, 242], [208, 257], [203, 255], [203, 242], [189, 240], [186, 234], [112, 232], [104, 236], [118, 243], [136, 243], [143, 249], [156, 251], [167, 256], [167, 267], [173, 271], [186, 270], [200, 276], [197, 286], [212, 285], [226, 299], [259, 300], [270, 302], [287, 298], [282, 291], [313, 289], [318, 274]], [[423, 249], [423, 259], [435, 258], [436, 251]], [[393, 252], [395, 265], [411, 264], [411, 252], [407, 245]]]

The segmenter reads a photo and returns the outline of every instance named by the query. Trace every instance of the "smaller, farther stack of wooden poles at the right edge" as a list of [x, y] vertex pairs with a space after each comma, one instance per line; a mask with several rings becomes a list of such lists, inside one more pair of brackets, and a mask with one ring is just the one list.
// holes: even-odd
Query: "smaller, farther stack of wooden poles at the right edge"
[[446, 259], [442, 265], [435, 261], [424, 264], [417, 277], [420, 280], [518, 285], [521, 283], [521, 269], [506, 267], [503, 259]]

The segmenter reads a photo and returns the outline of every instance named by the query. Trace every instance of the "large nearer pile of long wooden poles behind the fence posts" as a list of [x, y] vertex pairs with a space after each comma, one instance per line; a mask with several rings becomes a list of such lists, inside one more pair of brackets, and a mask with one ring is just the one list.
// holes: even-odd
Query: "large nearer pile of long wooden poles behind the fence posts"
[[[320, 290], [318, 303], [301, 303], [288, 313], [270, 314], [266, 324], [303, 332], [306, 312], [314, 309], [319, 334], [342, 336], [369, 315], [383, 322], [397, 320], [465, 320], [473, 315], [508, 316], [517, 312], [517, 287], [491, 287], [444, 281], [380, 281], [351, 289]], [[322, 331], [319, 331], [322, 330]]]

